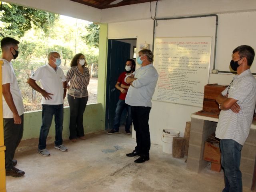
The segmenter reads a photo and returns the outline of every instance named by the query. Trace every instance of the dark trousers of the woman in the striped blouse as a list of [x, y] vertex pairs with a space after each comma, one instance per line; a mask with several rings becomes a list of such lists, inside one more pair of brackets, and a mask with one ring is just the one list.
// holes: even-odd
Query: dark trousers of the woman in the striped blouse
[[68, 104], [70, 108], [69, 139], [84, 136], [83, 116], [87, 101], [88, 96], [77, 98], [68, 94]]

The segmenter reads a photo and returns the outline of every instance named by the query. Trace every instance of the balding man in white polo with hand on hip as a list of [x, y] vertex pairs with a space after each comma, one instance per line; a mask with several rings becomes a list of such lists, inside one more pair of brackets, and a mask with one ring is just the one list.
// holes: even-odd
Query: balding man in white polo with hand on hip
[[[36, 91], [42, 94], [42, 126], [39, 136], [38, 152], [42, 156], [50, 156], [46, 149], [46, 138], [52, 124], [54, 115], [55, 121], [55, 146], [61, 151], [67, 151], [68, 148], [62, 144], [63, 129], [63, 102], [66, 97], [66, 77], [59, 67], [61, 64], [60, 54], [50, 52], [48, 54], [48, 64], [41, 66], [28, 78], [28, 84]], [[40, 81], [42, 88], [36, 84]]]

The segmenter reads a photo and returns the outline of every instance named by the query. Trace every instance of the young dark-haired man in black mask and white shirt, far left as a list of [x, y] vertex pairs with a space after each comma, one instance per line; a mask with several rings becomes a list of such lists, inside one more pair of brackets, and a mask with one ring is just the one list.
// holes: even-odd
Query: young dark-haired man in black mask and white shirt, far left
[[5, 37], [1, 40], [2, 49], [2, 92], [3, 92], [3, 118], [4, 118], [4, 145], [6, 175], [20, 177], [25, 174], [15, 166], [14, 153], [23, 135], [23, 112], [24, 106], [18, 82], [12, 68], [12, 59], [18, 57], [17, 40]]

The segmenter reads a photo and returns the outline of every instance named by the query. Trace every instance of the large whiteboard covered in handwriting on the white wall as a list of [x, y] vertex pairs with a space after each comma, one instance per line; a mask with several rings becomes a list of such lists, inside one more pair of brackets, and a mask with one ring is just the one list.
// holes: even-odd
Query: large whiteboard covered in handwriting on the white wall
[[152, 100], [202, 107], [212, 37], [155, 38], [158, 82]]

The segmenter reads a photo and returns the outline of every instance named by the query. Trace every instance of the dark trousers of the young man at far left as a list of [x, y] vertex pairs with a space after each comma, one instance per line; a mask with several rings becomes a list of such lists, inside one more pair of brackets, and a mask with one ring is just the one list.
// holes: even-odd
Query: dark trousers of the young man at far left
[[23, 114], [21, 124], [14, 124], [14, 118], [4, 118], [5, 169], [12, 169], [12, 160], [23, 135]]

